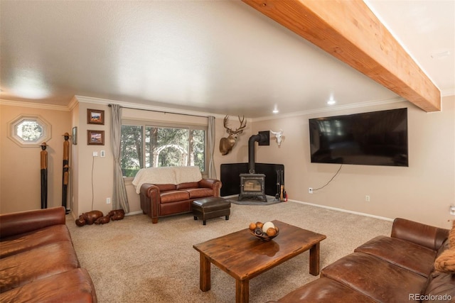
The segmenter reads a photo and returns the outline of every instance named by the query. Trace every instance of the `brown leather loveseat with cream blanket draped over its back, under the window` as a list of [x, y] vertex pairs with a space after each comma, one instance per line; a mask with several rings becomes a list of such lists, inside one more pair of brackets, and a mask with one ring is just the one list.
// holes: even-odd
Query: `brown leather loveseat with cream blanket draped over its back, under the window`
[[137, 172], [132, 182], [140, 195], [142, 212], [158, 223], [158, 218], [191, 211], [191, 202], [220, 197], [220, 180], [204, 179], [199, 167], [150, 167]]

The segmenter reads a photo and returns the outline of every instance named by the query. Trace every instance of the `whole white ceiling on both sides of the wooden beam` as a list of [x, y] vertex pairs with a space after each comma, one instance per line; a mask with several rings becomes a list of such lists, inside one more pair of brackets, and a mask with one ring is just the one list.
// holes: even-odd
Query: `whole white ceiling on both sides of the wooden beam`
[[[367, 4], [453, 94], [454, 1]], [[0, 26], [3, 100], [78, 95], [255, 118], [397, 98], [241, 1], [1, 0]]]

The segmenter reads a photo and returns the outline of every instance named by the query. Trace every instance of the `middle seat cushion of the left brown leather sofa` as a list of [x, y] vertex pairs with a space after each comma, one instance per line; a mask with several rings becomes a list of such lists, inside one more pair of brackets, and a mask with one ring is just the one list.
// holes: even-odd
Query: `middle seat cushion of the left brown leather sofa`
[[73, 243], [61, 241], [16, 253], [0, 262], [0, 292], [78, 268]]

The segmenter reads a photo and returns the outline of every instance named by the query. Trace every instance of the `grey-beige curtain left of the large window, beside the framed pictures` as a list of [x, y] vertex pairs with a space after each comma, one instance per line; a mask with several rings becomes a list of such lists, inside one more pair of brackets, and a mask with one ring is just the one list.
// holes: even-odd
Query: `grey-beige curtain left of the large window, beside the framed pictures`
[[123, 209], [129, 213], [127, 189], [123, 182], [122, 166], [120, 165], [120, 143], [122, 138], [122, 107], [111, 106], [111, 148], [114, 156], [114, 191], [112, 193], [113, 209]]

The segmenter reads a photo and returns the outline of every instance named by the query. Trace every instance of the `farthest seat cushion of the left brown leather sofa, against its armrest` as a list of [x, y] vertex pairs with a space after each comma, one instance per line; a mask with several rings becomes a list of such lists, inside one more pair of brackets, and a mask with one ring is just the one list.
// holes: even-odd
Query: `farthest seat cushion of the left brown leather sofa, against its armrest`
[[2, 238], [0, 242], [0, 258], [22, 253], [38, 246], [60, 241], [71, 241], [70, 232], [65, 225], [53, 225], [18, 236]]

